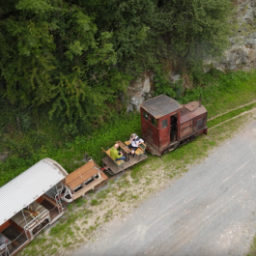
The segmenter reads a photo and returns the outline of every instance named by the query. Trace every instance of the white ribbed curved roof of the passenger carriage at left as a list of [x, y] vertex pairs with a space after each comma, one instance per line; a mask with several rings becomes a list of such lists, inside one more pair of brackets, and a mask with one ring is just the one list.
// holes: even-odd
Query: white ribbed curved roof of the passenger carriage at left
[[44, 158], [0, 187], [0, 225], [68, 175], [56, 161]]

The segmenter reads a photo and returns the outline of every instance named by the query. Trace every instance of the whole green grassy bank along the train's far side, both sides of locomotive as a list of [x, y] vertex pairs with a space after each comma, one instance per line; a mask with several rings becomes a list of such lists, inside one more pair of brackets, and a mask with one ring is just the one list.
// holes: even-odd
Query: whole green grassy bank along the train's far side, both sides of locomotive
[[[206, 74], [202, 83], [203, 85], [185, 92], [185, 97], [180, 101], [185, 103], [198, 100], [201, 94], [209, 118], [256, 99], [256, 71]], [[213, 127], [252, 107], [255, 104], [218, 117], [209, 122], [209, 126]], [[68, 172], [80, 165], [77, 161], [83, 158], [85, 152], [100, 163], [103, 156], [100, 147], [106, 148], [112, 146], [116, 140], [125, 140], [131, 132], [140, 132], [138, 115], [124, 114], [90, 136], [79, 135], [73, 139], [66, 139], [69, 136], [61, 134], [56, 126], [50, 127], [48, 124], [25, 131], [14, 130], [8, 134], [2, 132], [0, 135], [5, 138], [5, 145], [10, 146], [13, 154], [6, 162], [0, 162], [0, 185], [8, 183], [43, 157], [57, 160]], [[0, 150], [3, 151], [3, 147]]]

